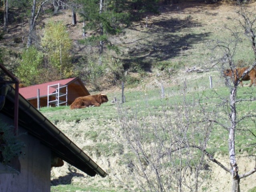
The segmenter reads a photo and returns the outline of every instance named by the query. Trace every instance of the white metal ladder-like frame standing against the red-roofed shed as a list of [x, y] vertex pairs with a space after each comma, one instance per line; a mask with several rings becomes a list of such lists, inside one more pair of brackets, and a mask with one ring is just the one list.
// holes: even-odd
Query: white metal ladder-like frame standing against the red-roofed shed
[[[50, 87], [56, 89], [54, 93], [49, 93]], [[60, 90], [62, 88], [66, 88], [66, 93], [61, 93]], [[55, 100], [49, 101], [50, 96], [54, 96]], [[48, 93], [47, 93], [47, 107], [49, 107], [49, 103], [54, 103], [55, 106], [59, 106], [61, 104], [66, 104], [67, 106], [68, 100], [68, 86], [61, 84], [48, 85]]]

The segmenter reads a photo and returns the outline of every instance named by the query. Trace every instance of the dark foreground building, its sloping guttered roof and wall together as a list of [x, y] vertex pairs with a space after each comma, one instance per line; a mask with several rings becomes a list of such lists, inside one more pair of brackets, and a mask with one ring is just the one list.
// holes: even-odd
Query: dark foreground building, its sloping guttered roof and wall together
[[[1, 170], [3, 165], [0, 163], [1, 192], [50, 192], [50, 172], [54, 157], [65, 160], [89, 176], [107, 176], [83, 150], [21, 94], [17, 94], [10, 84], [0, 81], [0, 90], [0, 122], [22, 133], [18, 138], [24, 142], [23, 152], [26, 153], [10, 164], [10, 167], [14, 165], [18, 174], [10, 174], [8, 169]], [[17, 127], [13, 126], [16, 121]]]

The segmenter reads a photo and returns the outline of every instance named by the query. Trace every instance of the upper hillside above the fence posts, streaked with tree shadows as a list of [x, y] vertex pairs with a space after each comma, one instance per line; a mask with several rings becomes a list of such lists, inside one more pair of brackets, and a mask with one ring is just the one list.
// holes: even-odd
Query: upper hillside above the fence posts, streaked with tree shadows
[[[250, 4], [254, 6], [254, 4]], [[218, 52], [212, 53], [212, 40], [224, 40], [230, 38], [226, 27], [238, 26], [234, 20], [236, 6], [218, 2], [217, 4], [205, 4], [199, 1], [185, 1], [169, 6], [160, 6], [160, 14], [148, 14], [147, 27], [146, 18], [131, 24], [118, 36], [110, 37], [112, 45], [119, 47], [120, 54], [104, 50], [103, 62], [107, 66], [113, 65], [115, 58], [124, 66], [127, 76], [122, 77], [127, 84], [136, 86], [143, 78], [151, 77], [153, 86], [159, 86], [163, 81], [175, 84], [179, 81], [183, 72], [188, 68], [196, 66], [199, 69], [212, 66], [212, 56], [218, 56]], [[89, 91], [94, 88], [88, 81], [85, 73], [87, 68], [86, 59], [97, 58], [97, 47], [93, 44], [81, 44], [83, 40], [83, 23], [78, 16], [76, 26], [71, 26], [71, 14], [68, 10], [62, 10], [57, 15], [46, 14], [38, 23], [44, 24], [49, 20], [62, 21], [73, 40], [74, 65], [82, 70], [80, 77], [85, 81]], [[21, 21], [20, 21], [21, 22]], [[10, 32], [4, 34], [0, 46], [4, 49], [4, 65], [11, 71], [18, 65], [17, 58], [20, 57], [22, 49], [26, 47], [26, 33], [28, 23], [13, 22]], [[36, 28], [37, 34], [42, 35], [43, 28]], [[90, 36], [91, 32], [87, 32]], [[24, 42], [15, 42], [16, 38], [25, 38]], [[220, 56], [220, 55], [219, 55]], [[241, 44], [237, 47], [236, 61], [247, 64], [253, 58], [249, 41], [241, 37]], [[113, 66], [111, 66], [113, 67]], [[218, 70], [218, 68], [211, 68]], [[135, 72], [135, 73], [133, 73]], [[102, 90], [112, 88], [111, 77], [100, 78]], [[145, 82], [149, 82], [145, 80]]]

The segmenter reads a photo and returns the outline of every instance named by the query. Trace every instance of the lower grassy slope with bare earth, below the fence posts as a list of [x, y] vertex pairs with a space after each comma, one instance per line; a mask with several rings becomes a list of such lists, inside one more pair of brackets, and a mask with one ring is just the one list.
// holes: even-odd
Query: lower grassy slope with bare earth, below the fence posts
[[[214, 73], [211, 73], [214, 76]], [[229, 89], [224, 84], [219, 84], [218, 87], [210, 89], [207, 78], [200, 75], [198, 84], [193, 81], [193, 88], [190, 88], [190, 83], [187, 84], [185, 99], [187, 102], [201, 102], [202, 106], [209, 111], [213, 108], [220, 107], [223, 100], [228, 99]], [[203, 83], [204, 82], [204, 83]], [[249, 87], [240, 87], [238, 90], [238, 98], [249, 98], [256, 94], [255, 89]], [[120, 101], [121, 93], [119, 90], [107, 93], [109, 98], [114, 96]], [[175, 115], [175, 106], [179, 106], [183, 102], [183, 82], [178, 86], [170, 86], [165, 88], [165, 98], [161, 99], [161, 89], [152, 88], [141, 90], [127, 89], [125, 90], [126, 101], [121, 105], [125, 116], [137, 119], [138, 124], [143, 124], [146, 120], [147, 124], [157, 124], [164, 120], [164, 114], [168, 113], [168, 119]], [[242, 114], [254, 114], [256, 104], [253, 102], [243, 103], [238, 106], [239, 116]], [[197, 113], [200, 108], [192, 110]], [[225, 108], [220, 108], [216, 116], [216, 120], [228, 126], [228, 117], [225, 114]], [[54, 168], [52, 170], [53, 185], [52, 191], [123, 191], [126, 190], [126, 184], [129, 181], [131, 186], [136, 187], [136, 181], [129, 178], [129, 166], [127, 155], [129, 150], [125, 145], [126, 141], [121, 132], [121, 125], [117, 106], [110, 102], [102, 104], [100, 107], [90, 107], [79, 110], [70, 110], [69, 107], [59, 108], [42, 108], [41, 112], [56, 126], [62, 130], [71, 140], [73, 140], [80, 148], [82, 148], [89, 156], [99, 164], [103, 170], [109, 174], [107, 178], [88, 178], [76, 169], [67, 170], [68, 165], [62, 168]], [[215, 116], [214, 114], [212, 114]], [[196, 118], [196, 116], [195, 116]], [[195, 119], [196, 120], [196, 119]], [[167, 122], [165, 122], [167, 123]], [[255, 138], [250, 132], [242, 131], [249, 129], [255, 133], [253, 122], [241, 122], [239, 131], [236, 136], [236, 151], [240, 160], [246, 154], [255, 154]], [[150, 134], [150, 133], [148, 133]], [[221, 126], [215, 125], [210, 135], [207, 150], [214, 154], [215, 157], [228, 166], [228, 146], [227, 146], [228, 131]], [[245, 162], [248, 162], [244, 164]], [[244, 158], [240, 162], [240, 170], [244, 172], [254, 166], [252, 159]], [[212, 170], [212, 180], [208, 190], [228, 191], [229, 185], [216, 185], [224, 180], [228, 183], [229, 177], [224, 170], [210, 164]], [[221, 174], [219, 173], [221, 172]], [[128, 174], [128, 175], [127, 175]], [[222, 175], [224, 174], [224, 175]], [[117, 178], [127, 177], [126, 180], [118, 180]], [[252, 187], [252, 178], [248, 178], [242, 183], [242, 189], [250, 189]], [[62, 185], [61, 185], [62, 184]], [[55, 186], [56, 185], [56, 186]], [[105, 187], [103, 187], [105, 186]], [[127, 189], [130, 191], [130, 189]], [[137, 190], [135, 190], [137, 191]]]

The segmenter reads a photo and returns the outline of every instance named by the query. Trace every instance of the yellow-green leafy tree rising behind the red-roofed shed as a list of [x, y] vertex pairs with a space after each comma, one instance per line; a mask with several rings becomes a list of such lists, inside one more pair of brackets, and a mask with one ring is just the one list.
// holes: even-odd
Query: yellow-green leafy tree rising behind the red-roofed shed
[[70, 54], [73, 44], [63, 23], [49, 22], [46, 25], [41, 45], [46, 53], [48, 66], [56, 68], [64, 78], [73, 76]]

